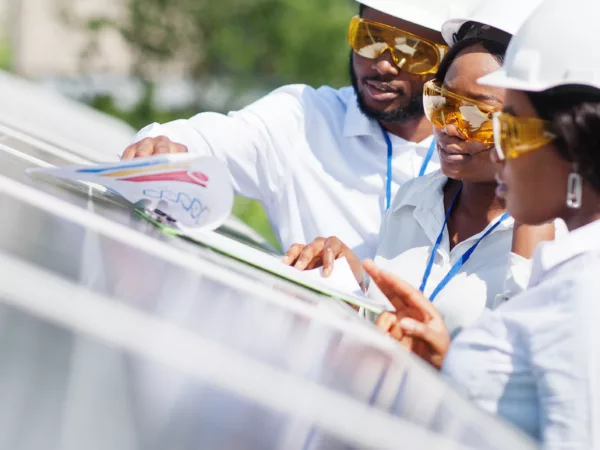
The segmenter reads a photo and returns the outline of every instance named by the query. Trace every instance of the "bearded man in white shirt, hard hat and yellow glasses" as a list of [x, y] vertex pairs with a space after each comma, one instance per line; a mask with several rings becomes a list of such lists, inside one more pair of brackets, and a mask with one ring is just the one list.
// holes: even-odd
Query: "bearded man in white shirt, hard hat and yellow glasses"
[[352, 87], [284, 86], [228, 115], [152, 124], [123, 159], [216, 156], [236, 192], [261, 201], [282, 248], [335, 235], [372, 257], [398, 187], [438, 168], [423, 85], [447, 50], [442, 23], [473, 2], [363, 0], [349, 29]]

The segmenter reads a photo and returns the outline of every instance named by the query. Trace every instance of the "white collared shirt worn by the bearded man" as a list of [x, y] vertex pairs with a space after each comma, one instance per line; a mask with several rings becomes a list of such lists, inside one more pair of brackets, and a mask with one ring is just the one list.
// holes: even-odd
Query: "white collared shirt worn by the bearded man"
[[[236, 192], [262, 202], [284, 250], [337, 236], [360, 258], [375, 254], [386, 209], [387, 145], [351, 87], [285, 86], [226, 116], [149, 125], [135, 142], [161, 135], [224, 161]], [[433, 138], [390, 138], [393, 195], [419, 174]], [[428, 171], [438, 167], [436, 152]]]

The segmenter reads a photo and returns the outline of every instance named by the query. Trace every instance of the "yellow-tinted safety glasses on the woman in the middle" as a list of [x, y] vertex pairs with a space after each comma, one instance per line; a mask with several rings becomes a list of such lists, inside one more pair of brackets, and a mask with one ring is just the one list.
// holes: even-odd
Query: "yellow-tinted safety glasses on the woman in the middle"
[[492, 116], [499, 108], [444, 89], [434, 80], [425, 83], [423, 107], [436, 127], [454, 125], [463, 139], [494, 144]]

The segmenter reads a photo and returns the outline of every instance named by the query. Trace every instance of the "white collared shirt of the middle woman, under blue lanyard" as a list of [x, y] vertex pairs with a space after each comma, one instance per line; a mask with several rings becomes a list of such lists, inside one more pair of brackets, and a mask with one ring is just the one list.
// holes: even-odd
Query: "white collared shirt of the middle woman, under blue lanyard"
[[[447, 181], [438, 171], [406, 183], [398, 191], [381, 227], [375, 263], [416, 288], [421, 285], [444, 225], [443, 188]], [[510, 217], [500, 223], [434, 299], [433, 304], [444, 316], [452, 336], [474, 323], [486, 308], [493, 309], [504, 298], [526, 287], [531, 262], [511, 253], [513, 225]], [[444, 228], [424, 290], [427, 297], [485, 231], [487, 228], [450, 250], [448, 228]], [[370, 283], [368, 293], [378, 303], [389, 304], [374, 283]]]

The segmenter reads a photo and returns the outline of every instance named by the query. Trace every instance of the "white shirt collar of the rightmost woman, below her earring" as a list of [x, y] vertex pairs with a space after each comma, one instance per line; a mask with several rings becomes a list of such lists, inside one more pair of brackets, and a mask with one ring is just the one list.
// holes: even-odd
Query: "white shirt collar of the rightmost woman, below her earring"
[[555, 267], [589, 251], [600, 250], [600, 220], [541, 244], [533, 259], [532, 284]]

